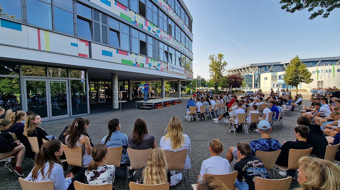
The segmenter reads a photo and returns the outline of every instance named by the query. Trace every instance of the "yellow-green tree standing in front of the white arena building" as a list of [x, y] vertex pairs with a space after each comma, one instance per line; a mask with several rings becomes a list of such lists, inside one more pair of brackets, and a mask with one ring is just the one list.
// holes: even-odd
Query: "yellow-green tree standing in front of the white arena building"
[[295, 56], [292, 60], [290, 60], [290, 65], [287, 65], [287, 68], [283, 74], [283, 80], [287, 85], [297, 87], [300, 83], [309, 84], [313, 81], [311, 78], [312, 73], [309, 72], [306, 65], [301, 63], [299, 56]]

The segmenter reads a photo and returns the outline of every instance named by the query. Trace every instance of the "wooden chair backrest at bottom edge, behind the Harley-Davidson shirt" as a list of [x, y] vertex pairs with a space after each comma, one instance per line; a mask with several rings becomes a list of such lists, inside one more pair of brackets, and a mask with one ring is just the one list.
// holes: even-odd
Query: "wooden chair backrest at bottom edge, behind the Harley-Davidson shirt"
[[255, 190], [288, 190], [292, 179], [292, 177], [287, 177], [279, 180], [269, 180], [256, 177]]

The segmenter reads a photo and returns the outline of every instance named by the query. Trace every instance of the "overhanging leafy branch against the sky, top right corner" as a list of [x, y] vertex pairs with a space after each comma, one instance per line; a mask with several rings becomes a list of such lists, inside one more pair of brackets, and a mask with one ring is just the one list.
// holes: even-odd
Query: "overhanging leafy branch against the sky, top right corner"
[[[317, 16], [322, 15], [322, 18], [327, 18], [332, 10], [340, 8], [338, 0], [281, 0], [281, 9], [285, 9], [288, 13], [294, 13], [295, 10], [303, 10], [308, 8], [308, 12], [312, 12], [317, 8], [317, 12], [310, 15], [309, 19], [313, 20]], [[324, 13], [326, 11], [326, 13]]]

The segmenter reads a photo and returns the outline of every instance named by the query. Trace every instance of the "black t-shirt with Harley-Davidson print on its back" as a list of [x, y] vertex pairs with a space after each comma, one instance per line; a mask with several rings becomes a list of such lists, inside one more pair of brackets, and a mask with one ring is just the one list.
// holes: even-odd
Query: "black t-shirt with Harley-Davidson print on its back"
[[247, 182], [250, 190], [255, 190], [255, 178], [261, 177], [269, 179], [265, 165], [256, 156], [246, 156], [234, 165], [235, 171], [238, 171], [237, 180], [243, 177]]

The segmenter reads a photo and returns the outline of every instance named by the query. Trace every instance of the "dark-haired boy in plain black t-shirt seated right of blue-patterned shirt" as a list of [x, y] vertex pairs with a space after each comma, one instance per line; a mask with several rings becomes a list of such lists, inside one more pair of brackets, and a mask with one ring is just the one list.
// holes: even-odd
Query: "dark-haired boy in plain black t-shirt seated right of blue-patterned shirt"
[[[276, 160], [276, 164], [280, 166], [288, 166], [288, 157], [289, 157], [289, 150], [290, 149], [297, 149], [297, 150], [304, 150], [312, 148], [310, 144], [308, 144], [307, 136], [309, 134], [309, 128], [305, 125], [298, 125], [294, 127], [294, 136], [296, 141], [286, 141], [281, 146], [281, 153], [278, 156]], [[286, 177], [291, 176], [294, 177], [296, 173], [296, 170], [288, 170], [286, 171], [280, 171], [279, 174]]]

